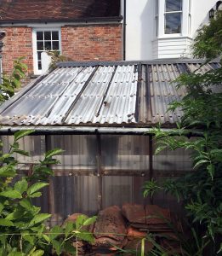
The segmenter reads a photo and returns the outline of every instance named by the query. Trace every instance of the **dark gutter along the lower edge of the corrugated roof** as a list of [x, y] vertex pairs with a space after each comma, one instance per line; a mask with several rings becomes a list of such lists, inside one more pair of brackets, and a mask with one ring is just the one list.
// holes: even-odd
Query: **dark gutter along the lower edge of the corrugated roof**
[[[16, 131], [34, 130], [31, 135], [77, 135], [77, 134], [116, 134], [116, 135], [154, 135], [153, 128], [96, 127], [96, 126], [2, 126], [0, 135], [13, 135]], [[161, 131], [174, 129], [162, 128]], [[200, 131], [187, 130], [187, 136], [202, 136]]]

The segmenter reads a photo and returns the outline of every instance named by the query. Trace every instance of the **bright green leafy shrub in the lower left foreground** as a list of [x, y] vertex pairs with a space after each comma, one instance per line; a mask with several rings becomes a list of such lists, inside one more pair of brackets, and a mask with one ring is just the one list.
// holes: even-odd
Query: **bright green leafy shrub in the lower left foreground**
[[94, 237], [85, 231], [85, 227], [93, 224], [95, 217], [81, 215], [76, 223], [67, 222], [64, 227], [54, 226], [48, 230], [45, 221], [51, 217], [41, 213], [40, 207], [32, 204], [32, 198], [40, 197], [41, 189], [48, 186], [45, 181], [53, 172], [48, 164], [54, 165], [58, 160], [54, 155], [61, 154], [59, 148], [45, 154], [44, 160], [33, 167], [31, 176], [18, 180], [17, 160], [13, 154], [25, 154], [19, 148], [19, 140], [33, 131], [18, 131], [14, 134], [14, 143], [9, 154], [2, 154], [0, 161], [0, 255], [56, 255], [70, 253], [76, 255], [73, 241], [78, 239], [91, 242]]

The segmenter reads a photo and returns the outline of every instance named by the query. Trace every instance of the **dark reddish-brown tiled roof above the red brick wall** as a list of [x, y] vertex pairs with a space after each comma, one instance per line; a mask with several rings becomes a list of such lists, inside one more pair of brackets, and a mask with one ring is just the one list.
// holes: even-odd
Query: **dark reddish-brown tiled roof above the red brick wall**
[[121, 20], [120, 0], [1, 0], [0, 24]]

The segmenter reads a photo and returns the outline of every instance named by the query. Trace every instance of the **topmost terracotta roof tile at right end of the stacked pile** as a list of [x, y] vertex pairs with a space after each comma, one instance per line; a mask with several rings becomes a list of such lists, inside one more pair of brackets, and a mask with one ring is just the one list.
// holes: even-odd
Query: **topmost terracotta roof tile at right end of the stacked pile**
[[146, 224], [166, 224], [171, 221], [170, 211], [156, 205], [145, 206]]

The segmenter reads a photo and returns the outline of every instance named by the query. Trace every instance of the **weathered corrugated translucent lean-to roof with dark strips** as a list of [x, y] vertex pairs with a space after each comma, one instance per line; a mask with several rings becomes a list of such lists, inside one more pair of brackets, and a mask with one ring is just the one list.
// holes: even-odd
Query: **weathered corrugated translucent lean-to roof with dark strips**
[[[172, 127], [181, 112], [168, 103], [185, 96], [171, 81], [200, 61], [61, 62], [4, 102], [0, 125]], [[200, 72], [218, 68], [208, 63]]]

